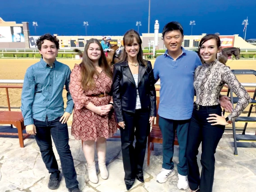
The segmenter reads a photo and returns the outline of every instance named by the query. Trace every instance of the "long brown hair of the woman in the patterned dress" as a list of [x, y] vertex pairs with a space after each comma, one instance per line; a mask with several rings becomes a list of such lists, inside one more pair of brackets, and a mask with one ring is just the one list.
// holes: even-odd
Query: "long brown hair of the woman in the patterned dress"
[[100, 42], [97, 39], [90, 39], [86, 46], [84, 47], [82, 62], [79, 64], [81, 68], [82, 75], [82, 86], [85, 89], [87, 86], [90, 88], [95, 86], [95, 81], [93, 76], [96, 74], [98, 76], [99, 72], [95, 69], [92, 60], [88, 57], [87, 50], [91, 43], [96, 43], [101, 49], [101, 57], [99, 59], [99, 66], [103, 67], [103, 71], [112, 79], [113, 73], [110, 69], [110, 66], [107, 64], [105, 53], [102, 49]]

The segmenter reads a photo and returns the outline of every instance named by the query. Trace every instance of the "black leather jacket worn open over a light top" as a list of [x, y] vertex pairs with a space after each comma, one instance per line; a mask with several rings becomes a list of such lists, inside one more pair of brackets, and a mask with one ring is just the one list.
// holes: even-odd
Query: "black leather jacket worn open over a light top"
[[[155, 78], [150, 61], [147, 67], [139, 64], [138, 92], [142, 109], [156, 117]], [[137, 91], [127, 62], [114, 64], [112, 94], [117, 122], [123, 121], [123, 111], [135, 113]]]

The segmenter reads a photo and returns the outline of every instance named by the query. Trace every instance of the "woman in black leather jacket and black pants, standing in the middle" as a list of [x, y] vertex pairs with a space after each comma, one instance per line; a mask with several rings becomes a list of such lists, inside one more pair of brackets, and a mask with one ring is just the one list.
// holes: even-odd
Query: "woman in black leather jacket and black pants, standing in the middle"
[[142, 167], [150, 123], [156, 117], [156, 93], [152, 65], [142, 58], [139, 34], [134, 30], [126, 32], [123, 46], [123, 59], [114, 64], [112, 92], [121, 133], [124, 182], [129, 190], [135, 178], [144, 183]]

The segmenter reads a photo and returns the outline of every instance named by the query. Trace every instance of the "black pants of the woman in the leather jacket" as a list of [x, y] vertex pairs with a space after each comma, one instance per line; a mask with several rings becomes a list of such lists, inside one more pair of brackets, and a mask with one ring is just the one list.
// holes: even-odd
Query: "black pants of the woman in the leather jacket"
[[[124, 181], [134, 181], [136, 175], [143, 175], [146, 141], [150, 133], [149, 110], [136, 110], [135, 114], [123, 112], [123, 119], [125, 128], [120, 128], [120, 133]], [[134, 135], [136, 137], [135, 148], [133, 147]]]

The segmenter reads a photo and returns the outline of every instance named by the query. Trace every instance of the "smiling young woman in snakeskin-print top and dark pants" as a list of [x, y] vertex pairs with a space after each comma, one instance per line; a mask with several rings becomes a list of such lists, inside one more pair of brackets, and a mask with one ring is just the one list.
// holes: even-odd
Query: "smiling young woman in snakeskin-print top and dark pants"
[[[194, 88], [197, 99], [194, 103], [187, 137], [187, 169], [191, 191], [212, 192], [215, 151], [225, 125], [232, 123], [249, 105], [251, 98], [228, 66], [216, 59], [220, 39], [207, 35], [199, 43], [199, 56], [204, 63], [195, 71]], [[239, 100], [233, 112], [225, 119], [219, 105], [219, 93], [228, 84]], [[202, 143], [201, 178], [197, 165], [198, 147]]]

